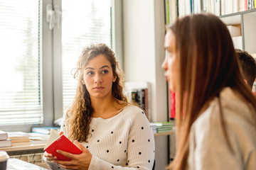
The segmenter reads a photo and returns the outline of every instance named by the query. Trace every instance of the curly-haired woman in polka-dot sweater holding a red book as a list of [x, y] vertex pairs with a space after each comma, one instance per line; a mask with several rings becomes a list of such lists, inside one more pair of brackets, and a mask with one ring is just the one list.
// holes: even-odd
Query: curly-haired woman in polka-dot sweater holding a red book
[[[119, 72], [118, 72], [119, 70]], [[144, 111], [123, 94], [123, 76], [107, 45], [82, 51], [74, 77], [78, 87], [61, 130], [82, 154], [59, 151], [70, 162], [45, 153], [51, 169], [152, 169], [154, 135]]]

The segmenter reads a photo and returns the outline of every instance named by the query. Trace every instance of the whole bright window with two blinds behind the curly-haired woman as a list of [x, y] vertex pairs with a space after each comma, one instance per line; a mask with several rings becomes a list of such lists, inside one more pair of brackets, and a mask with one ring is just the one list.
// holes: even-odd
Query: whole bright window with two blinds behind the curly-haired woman
[[[60, 6], [60, 28], [55, 24], [50, 30], [43, 21], [46, 3], [53, 10]], [[117, 0], [0, 0], [1, 130], [23, 125], [26, 130], [14, 130], [30, 131], [63, 115], [73, 102], [77, 81], [70, 73], [82, 47], [103, 42], [122, 62], [122, 16], [115, 15], [116, 4], [121, 13]]]

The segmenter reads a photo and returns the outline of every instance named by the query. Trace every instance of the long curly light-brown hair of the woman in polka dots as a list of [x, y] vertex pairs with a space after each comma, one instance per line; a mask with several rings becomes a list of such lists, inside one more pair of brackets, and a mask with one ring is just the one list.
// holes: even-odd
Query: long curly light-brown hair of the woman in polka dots
[[74, 78], [78, 79], [75, 100], [71, 109], [66, 113], [68, 116], [68, 137], [70, 137], [71, 140], [86, 142], [88, 135], [90, 135], [90, 122], [92, 120], [93, 108], [91, 106], [90, 94], [85, 84], [82, 84], [82, 79], [85, 67], [92, 58], [98, 55], [105, 55], [107, 60], [110, 61], [113, 75], [117, 77], [116, 81], [112, 84], [112, 97], [115, 100], [127, 102], [127, 98], [123, 94], [124, 74], [114, 57], [114, 52], [105, 44], [85, 47], [85, 49], [82, 50], [82, 55], [79, 57], [74, 73]]

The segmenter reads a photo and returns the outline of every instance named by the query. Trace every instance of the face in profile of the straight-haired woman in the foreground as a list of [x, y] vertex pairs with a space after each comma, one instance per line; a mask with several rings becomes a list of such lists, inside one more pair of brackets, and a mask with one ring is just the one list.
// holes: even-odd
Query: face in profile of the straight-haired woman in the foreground
[[176, 91], [176, 42], [174, 33], [167, 31], [164, 47], [166, 49], [166, 58], [162, 64], [164, 76], [169, 83], [171, 91]]

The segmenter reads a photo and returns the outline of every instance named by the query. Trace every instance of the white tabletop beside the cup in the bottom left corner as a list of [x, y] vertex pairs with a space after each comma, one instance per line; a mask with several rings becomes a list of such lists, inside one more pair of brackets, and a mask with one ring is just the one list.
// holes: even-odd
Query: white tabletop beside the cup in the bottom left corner
[[31, 164], [28, 162], [23, 162], [19, 159], [16, 158], [9, 158], [7, 162], [7, 170], [28, 170], [28, 169], [33, 169], [33, 170], [47, 170], [44, 169], [41, 166], [37, 166], [35, 164]]

